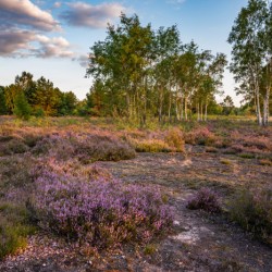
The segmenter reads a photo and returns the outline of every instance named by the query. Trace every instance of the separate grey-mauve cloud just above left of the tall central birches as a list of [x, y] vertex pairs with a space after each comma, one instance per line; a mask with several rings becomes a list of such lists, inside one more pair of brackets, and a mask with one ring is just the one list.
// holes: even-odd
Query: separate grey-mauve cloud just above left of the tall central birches
[[70, 9], [61, 14], [67, 24], [90, 28], [103, 28], [107, 23], [119, 17], [126, 9], [120, 3], [91, 5], [84, 2], [69, 4]]

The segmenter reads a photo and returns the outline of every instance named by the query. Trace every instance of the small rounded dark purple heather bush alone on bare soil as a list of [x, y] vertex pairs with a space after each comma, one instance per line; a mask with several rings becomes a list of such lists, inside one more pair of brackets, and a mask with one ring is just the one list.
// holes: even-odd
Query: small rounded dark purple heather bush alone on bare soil
[[188, 199], [187, 208], [217, 213], [221, 211], [221, 203], [217, 193], [209, 188], [201, 188], [196, 195]]

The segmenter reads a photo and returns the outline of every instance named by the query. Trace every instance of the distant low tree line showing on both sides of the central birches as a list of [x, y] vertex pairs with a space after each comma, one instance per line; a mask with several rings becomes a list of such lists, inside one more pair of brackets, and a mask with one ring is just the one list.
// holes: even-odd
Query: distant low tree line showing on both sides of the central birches
[[[78, 100], [73, 91], [63, 92], [53, 83], [41, 76], [34, 81], [28, 72], [22, 72], [15, 77], [13, 84], [0, 86], [0, 115], [15, 114], [27, 120], [32, 115], [42, 116], [114, 116], [109, 110], [110, 106], [94, 103], [92, 88], [86, 98]], [[98, 100], [95, 100], [98, 101]], [[239, 110], [234, 107], [233, 100], [226, 96], [222, 103], [210, 101], [209, 113], [237, 114]]]

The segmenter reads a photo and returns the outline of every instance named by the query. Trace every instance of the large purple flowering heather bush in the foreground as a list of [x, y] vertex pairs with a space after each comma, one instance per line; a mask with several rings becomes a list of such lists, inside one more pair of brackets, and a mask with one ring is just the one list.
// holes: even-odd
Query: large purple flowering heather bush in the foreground
[[106, 248], [148, 242], [171, 227], [172, 210], [152, 189], [103, 176], [85, 181], [45, 169], [36, 180], [33, 206], [42, 227]]

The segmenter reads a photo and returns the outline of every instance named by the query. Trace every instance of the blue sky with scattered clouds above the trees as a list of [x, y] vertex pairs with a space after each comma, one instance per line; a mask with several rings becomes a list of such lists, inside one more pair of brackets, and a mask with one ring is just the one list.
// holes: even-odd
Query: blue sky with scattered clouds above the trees
[[[184, 44], [194, 40], [231, 61], [227, 36], [246, 5], [247, 0], [0, 0], [0, 85], [26, 71], [84, 99], [91, 86], [85, 77], [90, 47], [104, 40], [107, 24], [118, 24], [121, 12], [136, 13], [153, 29], [176, 24]], [[231, 95], [239, 106], [233, 75], [224, 75], [218, 100]]]

